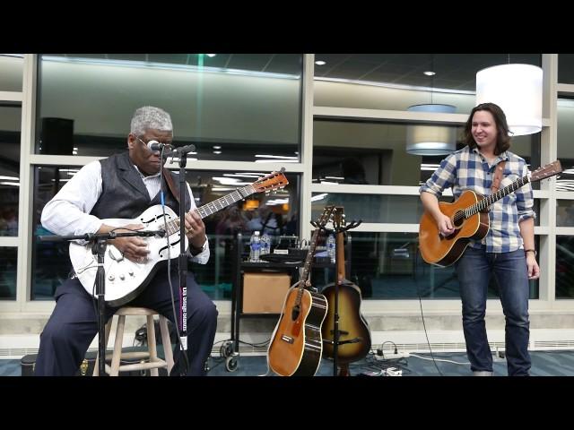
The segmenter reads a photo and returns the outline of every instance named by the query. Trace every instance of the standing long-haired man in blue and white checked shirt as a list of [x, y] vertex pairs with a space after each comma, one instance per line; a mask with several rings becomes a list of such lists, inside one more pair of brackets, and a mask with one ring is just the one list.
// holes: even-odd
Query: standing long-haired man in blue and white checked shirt
[[[439, 232], [450, 236], [452, 220], [439, 210], [438, 197], [452, 187], [455, 198], [465, 190], [491, 194], [497, 169], [502, 168], [499, 188], [526, 176], [526, 161], [509, 151], [509, 125], [494, 103], [474, 107], [465, 125], [462, 150], [443, 159], [420, 189], [424, 210], [437, 222]], [[466, 354], [474, 375], [492, 374], [492, 355], [484, 315], [491, 275], [498, 281], [506, 318], [506, 356], [510, 376], [528, 375], [530, 322], [528, 280], [540, 276], [535, 251], [535, 211], [532, 186], [527, 184], [491, 206], [490, 229], [482, 241], [471, 241], [457, 261], [462, 298]]]

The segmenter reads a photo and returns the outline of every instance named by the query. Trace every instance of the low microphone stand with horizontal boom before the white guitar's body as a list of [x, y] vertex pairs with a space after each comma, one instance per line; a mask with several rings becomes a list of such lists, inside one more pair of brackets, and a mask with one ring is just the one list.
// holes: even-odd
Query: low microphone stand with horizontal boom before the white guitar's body
[[96, 300], [98, 301], [98, 355], [100, 357], [98, 370], [100, 376], [106, 375], [106, 333], [105, 333], [105, 320], [106, 320], [106, 273], [104, 269], [104, 256], [106, 254], [106, 247], [108, 240], [117, 237], [128, 236], [165, 236], [163, 230], [149, 230], [149, 231], [130, 231], [126, 233], [117, 233], [110, 231], [108, 233], [86, 233], [79, 236], [38, 236], [40, 242], [63, 242], [83, 239], [91, 243], [91, 254], [97, 256], [98, 271], [96, 272]]

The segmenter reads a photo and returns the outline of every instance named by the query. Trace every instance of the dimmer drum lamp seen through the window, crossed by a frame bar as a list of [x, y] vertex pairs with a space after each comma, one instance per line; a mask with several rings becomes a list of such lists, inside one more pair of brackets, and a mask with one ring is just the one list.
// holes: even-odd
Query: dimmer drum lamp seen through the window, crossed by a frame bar
[[[412, 112], [434, 112], [452, 114], [457, 108], [452, 105], [414, 105]], [[447, 155], [457, 149], [457, 129], [448, 125], [407, 125], [406, 152], [413, 155]]]

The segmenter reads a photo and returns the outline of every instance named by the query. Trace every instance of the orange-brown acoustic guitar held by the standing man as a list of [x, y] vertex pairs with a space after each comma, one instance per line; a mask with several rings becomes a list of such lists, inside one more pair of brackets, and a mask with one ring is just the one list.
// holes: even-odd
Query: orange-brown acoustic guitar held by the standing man
[[561, 171], [560, 160], [556, 160], [491, 195], [483, 196], [467, 190], [456, 202], [439, 202], [440, 211], [452, 220], [455, 231], [450, 236], [442, 236], [435, 219], [425, 211], [419, 225], [419, 248], [422, 259], [440, 267], [457, 262], [471, 239], [481, 240], [488, 233], [490, 219], [486, 210], [492, 203], [498, 202], [509, 193], [514, 193], [529, 182], [558, 175]]

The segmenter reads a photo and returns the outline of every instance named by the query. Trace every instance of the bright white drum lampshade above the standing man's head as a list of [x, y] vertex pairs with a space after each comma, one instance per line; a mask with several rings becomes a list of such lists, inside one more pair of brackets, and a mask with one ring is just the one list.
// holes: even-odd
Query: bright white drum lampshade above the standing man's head
[[532, 64], [502, 64], [476, 73], [476, 104], [495, 103], [506, 115], [511, 135], [542, 130], [542, 69]]

